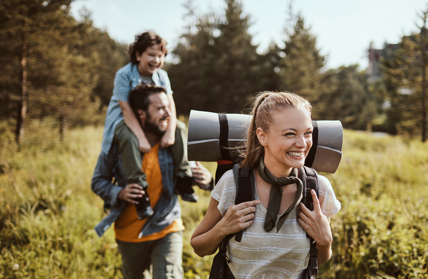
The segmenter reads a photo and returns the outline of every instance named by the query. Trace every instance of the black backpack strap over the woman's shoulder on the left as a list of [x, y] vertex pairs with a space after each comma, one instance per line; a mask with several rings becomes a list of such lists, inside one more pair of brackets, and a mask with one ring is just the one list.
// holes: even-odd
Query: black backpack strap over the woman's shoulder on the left
[[[239, 168], [239, 164], [233, 166], [233, 175], [235, 176], [236, 194], [235, 204], [249, 202], [254, 200], [251, 175], [246, 167]], [[235, 235], [235, 240], [241, 242], [243, 230]]]

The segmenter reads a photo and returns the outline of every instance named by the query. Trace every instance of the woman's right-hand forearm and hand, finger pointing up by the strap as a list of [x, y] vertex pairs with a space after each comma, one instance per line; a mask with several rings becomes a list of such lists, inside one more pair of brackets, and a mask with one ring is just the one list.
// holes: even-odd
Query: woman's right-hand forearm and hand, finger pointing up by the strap
[[315, 190], [311, 190], [314, 210], [310, 211], [303, 203], [299, 204], [300, 212], [297, 221], [317, 243], [318, 266], [331, 257], [333, 235], [330, 229], [330, 218], [322, 214], [320, 202]]

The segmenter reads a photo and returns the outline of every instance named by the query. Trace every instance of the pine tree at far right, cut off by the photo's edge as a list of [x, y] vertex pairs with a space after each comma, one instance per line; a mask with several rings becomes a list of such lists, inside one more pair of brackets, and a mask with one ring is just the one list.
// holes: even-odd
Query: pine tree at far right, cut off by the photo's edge
[[401, 38], [395, 57], [383, 60], [386, 95], [393, 115], [400, 115], [398, 132], [421, 134], [422, 142], [427, 133], [427, 70], [428, 70], [428, 8], [418, 15], [422, 24], [419, 32]]

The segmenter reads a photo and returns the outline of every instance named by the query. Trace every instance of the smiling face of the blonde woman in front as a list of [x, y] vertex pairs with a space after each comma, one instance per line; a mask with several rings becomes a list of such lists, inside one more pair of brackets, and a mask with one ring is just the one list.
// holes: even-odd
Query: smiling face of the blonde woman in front
[[268, 132], [257, 129], [265, 147], [265, 165], [281, 169], [299, 168], [312, 147], [312, 120], [306, 108], [284, 108], [272, 115]]

